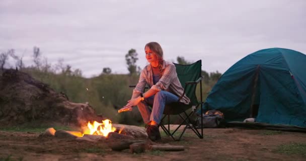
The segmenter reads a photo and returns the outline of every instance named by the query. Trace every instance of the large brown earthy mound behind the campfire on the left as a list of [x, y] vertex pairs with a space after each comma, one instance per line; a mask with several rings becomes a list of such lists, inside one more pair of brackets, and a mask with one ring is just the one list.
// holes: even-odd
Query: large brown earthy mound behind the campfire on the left
[[0, 76], [0, 107], [0, 126], [32, 121], [83, 126], [88, 121], [104, 120], [90, 105], [70, 102], [65, 94], [13, 69], [4, 70]]

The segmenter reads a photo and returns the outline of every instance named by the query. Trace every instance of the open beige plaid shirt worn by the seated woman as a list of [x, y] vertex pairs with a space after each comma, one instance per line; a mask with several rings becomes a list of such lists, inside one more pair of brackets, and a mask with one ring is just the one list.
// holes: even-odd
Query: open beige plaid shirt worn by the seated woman
[[[181, 97], [184, 89], [179, 81], [179, 78], [176, 73], [176, 67], [172, 62], [165, 61], [163, 62], [162, 68], [163, 75], [158, 83], [154, 85], [153, 83], [153, 73], [151, 69], [151, 65], [146, 65], [139, 76], [139, 81], [133, 90], [132, 98], [138, 97], [141, 93], [143, 93], [145, 85], [148, 85], [149, 88], [156, 91], [168, 91], [173, 93], [174, 95]], [[184, 104], [189, 104], [190, 99], [184, 95], [184, 97], [180, 100], [180, 102]]]

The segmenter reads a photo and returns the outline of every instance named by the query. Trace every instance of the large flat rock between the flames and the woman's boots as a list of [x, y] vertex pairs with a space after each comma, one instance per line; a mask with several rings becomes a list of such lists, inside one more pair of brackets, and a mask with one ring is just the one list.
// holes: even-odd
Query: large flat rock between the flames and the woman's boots
[[147, 139], [147, 133], [143, 127], [122, 124], [113, 124], [113, 126], [116, 129], [121, 130], [122, 134], [133, 136], [138, 139]]

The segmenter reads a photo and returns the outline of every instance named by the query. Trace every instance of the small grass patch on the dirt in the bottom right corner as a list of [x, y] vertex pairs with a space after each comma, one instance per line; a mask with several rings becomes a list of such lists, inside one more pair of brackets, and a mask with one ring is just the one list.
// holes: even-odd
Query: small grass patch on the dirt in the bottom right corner
[[289, 144], [282, 144], [276, 148], [275, 152], [288, 155], [298, 154], [306, 156], [306, 143], [291, 142]]

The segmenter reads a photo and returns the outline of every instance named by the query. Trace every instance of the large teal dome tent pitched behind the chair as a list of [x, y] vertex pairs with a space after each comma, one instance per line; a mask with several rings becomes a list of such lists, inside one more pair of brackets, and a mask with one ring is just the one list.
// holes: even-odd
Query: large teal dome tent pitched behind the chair
[[203, 107], [227, 121], [306, 127], [306, 55], [283, 48], [249, 54], [222, 74]]

